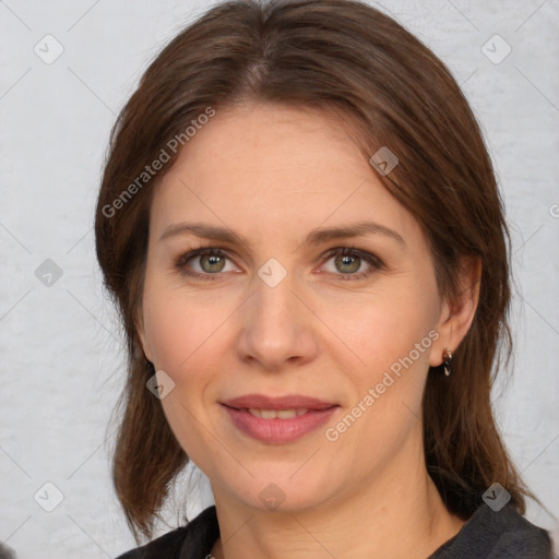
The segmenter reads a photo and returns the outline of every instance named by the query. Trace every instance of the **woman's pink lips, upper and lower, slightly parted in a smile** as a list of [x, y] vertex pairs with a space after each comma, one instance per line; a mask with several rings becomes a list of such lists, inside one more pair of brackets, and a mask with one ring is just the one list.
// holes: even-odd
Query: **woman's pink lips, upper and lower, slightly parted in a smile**
[[[247, 394], [222, 402], [221, 405], [237, 429], [252, 439], [269, 444], [295, 442], [326, 423], [340, 407], [337, 404], [309, 396], [271, 397], [262, 394]], [[305, 408], [307, 413], [288, 419], [264, 419], [252, 415], [249, 408]]]

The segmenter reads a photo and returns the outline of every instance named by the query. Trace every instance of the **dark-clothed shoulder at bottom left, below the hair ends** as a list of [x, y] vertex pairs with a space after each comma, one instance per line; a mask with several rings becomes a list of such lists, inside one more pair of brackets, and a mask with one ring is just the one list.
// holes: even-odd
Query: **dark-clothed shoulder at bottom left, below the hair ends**
[[219, 535], [215, 506], [203, 510], [186, 526], [117, 557], [117, 559], [203, 559]]

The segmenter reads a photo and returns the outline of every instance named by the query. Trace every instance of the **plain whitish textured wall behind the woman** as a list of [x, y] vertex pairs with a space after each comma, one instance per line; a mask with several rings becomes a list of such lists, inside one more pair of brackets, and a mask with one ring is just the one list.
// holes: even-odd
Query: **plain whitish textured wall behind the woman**
[[[116, 115], [147, 62], [209, 4], [0, 1], [0, 542], [21, 559], [115, 557], [135, 545], [109, 478], [123, 353], [93, 212]], [[557, 530], [559, 3], [385, 0], [382, 9], [449, 64], [483, 123], [516, 276], [514, 376], [495, 392], [496, 408], [548, 509], [531, 506], [528, 518]], [[64, 49], [51, 64], [34, 52], [47, 34]], [[495, 34], [512, 48], [499, 64], [481, 50]], [[495, 40], [489, 48], [504, 52]], [[35, 275], [46, 259], [62, 271], [50, 287]], [[47, 481], [63, 495], [52, 512], [34, 500]], [[204, 487], [191, 491], [191, 514], [211, 502]]]

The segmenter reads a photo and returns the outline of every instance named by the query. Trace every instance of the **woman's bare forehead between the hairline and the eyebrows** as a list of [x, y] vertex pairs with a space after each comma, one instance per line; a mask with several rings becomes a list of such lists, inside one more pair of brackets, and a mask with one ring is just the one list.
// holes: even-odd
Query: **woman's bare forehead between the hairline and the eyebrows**
[[413, 235], [413, 216], [332, 118], [278, 105], [217, 111], [157, 185], [155, 233], [193, 218], [247, 236], [374, 219]]

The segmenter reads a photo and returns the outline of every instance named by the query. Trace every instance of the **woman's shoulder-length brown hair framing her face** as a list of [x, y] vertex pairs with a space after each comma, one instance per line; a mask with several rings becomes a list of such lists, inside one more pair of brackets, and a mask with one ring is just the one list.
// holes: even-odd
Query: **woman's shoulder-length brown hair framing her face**
[[[136, 540], [151, 537], [189, 460], [146, 390], [154, 367], [138, 336], [151, 201], [180, 153], [169, 141], [182, 133], [185, 145], [183, 131], [200, 115], [240, 103], [318, 109], [348, 123], [367, 158], [381, 146], [396, 154], [396, 167], [378, 177], [421, 226], [442, 297], [462, 288], [461, 259], [479, 259], [479, 301], [452, 376], [428, 374], [425, 461], [448, 510], [462, 519], [495, 481], [524, 513], [533, 495], [490, 400], [512, 353], [510, 239], [491, 160], [459, 85], [423, 43], [362, 2], [240, 0], [210, 9], [150, 64], [111, 131], [97, 201], [97, 259], [128, 344], [112, 479]], [[146, 177], [146, 164], [164, 152], [169, 160]]]

